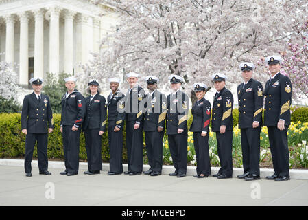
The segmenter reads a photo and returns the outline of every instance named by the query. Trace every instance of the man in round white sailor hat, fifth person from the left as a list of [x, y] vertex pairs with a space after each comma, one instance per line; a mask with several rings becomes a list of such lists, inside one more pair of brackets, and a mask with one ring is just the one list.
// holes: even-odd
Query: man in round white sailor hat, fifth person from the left
[[126, 146], [128, 153], [128, 172], [139, 175], [143, 170], [143, 113], [145, 91], [137, 84], [138, 74], [126, 74], [130, 89], [126, 95]]

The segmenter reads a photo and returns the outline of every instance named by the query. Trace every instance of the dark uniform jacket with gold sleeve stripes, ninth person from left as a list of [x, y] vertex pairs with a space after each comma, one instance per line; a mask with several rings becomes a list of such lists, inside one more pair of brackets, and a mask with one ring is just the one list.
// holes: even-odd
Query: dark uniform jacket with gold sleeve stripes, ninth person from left
[[215, 95], [212, 111], [212, 131], [220, 131], [220, 126], [225, 125], [226, 131], [233, 131], [233, 95], [230, 90], [222, 89]]

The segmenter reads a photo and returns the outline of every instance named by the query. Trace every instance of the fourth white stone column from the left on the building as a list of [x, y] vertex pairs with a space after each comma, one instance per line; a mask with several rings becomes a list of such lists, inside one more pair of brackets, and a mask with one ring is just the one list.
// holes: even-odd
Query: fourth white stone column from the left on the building
[[49, 72], [58, 74], [60, 72], [60, 8], [52, 7], [50, 12], [49, 28]]

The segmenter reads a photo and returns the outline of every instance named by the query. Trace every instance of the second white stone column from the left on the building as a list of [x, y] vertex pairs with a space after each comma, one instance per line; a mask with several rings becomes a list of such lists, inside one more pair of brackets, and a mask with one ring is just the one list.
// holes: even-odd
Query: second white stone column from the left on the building
[[29, 84], [29, 14], [18, 14], [21, 23], [21, 37], [19, 43], [19, 84]]

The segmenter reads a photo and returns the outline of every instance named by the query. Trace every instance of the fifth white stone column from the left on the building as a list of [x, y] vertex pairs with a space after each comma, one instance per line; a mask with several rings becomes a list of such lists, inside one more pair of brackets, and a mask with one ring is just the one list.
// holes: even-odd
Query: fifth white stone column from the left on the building
[[64, 72], [73, 74], [73, 18], [75, 12], [65, 12], [64, 24]]

